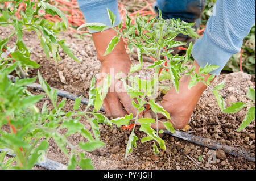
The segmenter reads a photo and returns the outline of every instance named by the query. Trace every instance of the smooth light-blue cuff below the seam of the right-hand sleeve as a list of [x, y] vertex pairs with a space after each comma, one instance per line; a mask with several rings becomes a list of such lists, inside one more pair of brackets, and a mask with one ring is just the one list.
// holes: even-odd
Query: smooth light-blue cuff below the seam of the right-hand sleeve
[[214, 43], [207, 35], [207, 32], [204, 32], [203, 37], [193, 45], [191, 54], [197, 64], [202, 68], [207, 64], [218, 65], [219, 68], [211, 71], [210, 74], [220, 75], [221, 70], [233, 53], [226, 51]]

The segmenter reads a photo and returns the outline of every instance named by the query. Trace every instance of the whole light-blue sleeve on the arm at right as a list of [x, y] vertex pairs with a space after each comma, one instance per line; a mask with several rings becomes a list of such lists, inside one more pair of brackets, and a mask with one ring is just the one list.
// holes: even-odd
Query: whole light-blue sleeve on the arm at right
[[192, 48], [197, 64], [220, 66], [219, 75], [232, 54], [240, 52], [243, 38], [255, 23], [255, 0], [217, 0], [204, 35]]

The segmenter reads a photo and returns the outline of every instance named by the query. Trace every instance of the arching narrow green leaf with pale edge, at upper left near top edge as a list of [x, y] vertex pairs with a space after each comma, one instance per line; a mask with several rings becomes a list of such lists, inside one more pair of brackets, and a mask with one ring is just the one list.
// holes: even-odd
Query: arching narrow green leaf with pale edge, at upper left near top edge
[[63, 20], [65, 27], [68, 28], [68, 18], [61, 10], [46, 2], [40, 2], [40, 4], [42, 5], [43, 9], [47, 12], [47, 14], [51, 14], [52, 16], [58, 15]]

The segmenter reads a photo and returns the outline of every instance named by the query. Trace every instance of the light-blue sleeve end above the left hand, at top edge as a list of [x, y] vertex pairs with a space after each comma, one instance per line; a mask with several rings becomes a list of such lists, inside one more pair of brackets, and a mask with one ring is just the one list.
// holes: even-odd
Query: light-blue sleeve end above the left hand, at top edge
[[[92, 1], [92, 0], [91, 0]], [[112, 27], [110, 23], [107, 8], [115, 15], [114, 26], [118, 26], [121, 23], [121, 16], [118, 11], [118, 3], [117, 0], [109, 0], [109, 1], [94, 1], [95, 3], [88, 4], [88, 1], [78, 1], [80, 10], [84, 15], [86, 23], [103, 23], [107, 26]], [[94, 33], [98, 31], [90, 31], [90, 33]]]

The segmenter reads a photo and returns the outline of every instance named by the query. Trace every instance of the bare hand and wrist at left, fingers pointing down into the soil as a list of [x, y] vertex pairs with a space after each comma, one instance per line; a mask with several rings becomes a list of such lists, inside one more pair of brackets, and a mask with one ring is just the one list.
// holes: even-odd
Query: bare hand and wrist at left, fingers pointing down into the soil
[[136, 116], [137, 109], [133, 107], [132, 99], [125, 92], [122, 81], [115, 75], [122, 72], [121, 77], [125, 77], [131, 66], [131, 61], [126, 53], [122, 38], [115, 45], [114, 50], [106, 56], [103, 56], [110, 40], [116, 36], [112, 29], [103, 32], [92, 33], [94, 45], [97, 50], [97, 57], [101, 61], [101, 70], [96, 86], [101, 86], [106, 74], [110, 75], [110, 89], [103, 102], [106, 113], [111, 117], [124, 117], [126, 114], [133, 113]]

